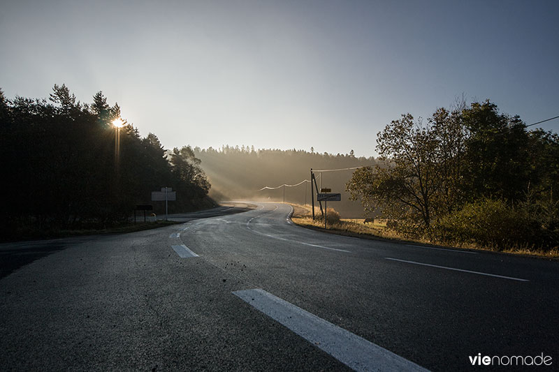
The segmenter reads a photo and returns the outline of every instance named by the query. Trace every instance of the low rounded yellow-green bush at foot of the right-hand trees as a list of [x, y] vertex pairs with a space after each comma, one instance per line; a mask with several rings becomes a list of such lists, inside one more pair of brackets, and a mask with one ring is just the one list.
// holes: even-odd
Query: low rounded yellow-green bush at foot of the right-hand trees
[[[473, 243], [496, 251], [505, 248], [552, 248], [555, 232], [546, 229], [528, 209], [484, 198], [440, 218], [433, 235], [450, 243]], [[554, 242], [555, 241], [555, 242]]]

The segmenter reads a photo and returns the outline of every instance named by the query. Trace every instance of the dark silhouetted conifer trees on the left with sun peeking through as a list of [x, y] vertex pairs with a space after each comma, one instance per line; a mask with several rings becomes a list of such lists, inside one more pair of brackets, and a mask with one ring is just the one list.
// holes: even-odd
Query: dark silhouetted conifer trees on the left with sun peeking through
[[126, 221], [151, 191], [177, 191], [171, 211], [209, 206], [210, 184], [190, 147], [165, 151], [157, 135], [115, 128], [120, 107], [99, 91], [90, 104], [64, 84], [48, 101], [0, 90], [3, 236], [22, 230], [106, 226]]

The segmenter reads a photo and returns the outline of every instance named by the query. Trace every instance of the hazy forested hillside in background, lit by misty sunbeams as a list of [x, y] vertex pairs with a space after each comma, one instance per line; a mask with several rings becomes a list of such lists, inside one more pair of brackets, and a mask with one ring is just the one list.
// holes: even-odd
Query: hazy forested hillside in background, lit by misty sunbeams
[[[349, 200], [350, 195], [345, 191], [353, 170], [320, 171], [375, 165], [375, 158], [356, 157], [353, 150], [349, 154], [319, 154], [312, 147], [305, 151], [224, 145], [220, 149], [195, 147], [194, 155], [202, 161], [202, 168], [212, 184], [210, 196], [216, 200], [285, 200], [311, 204], [310, 182], [305, 180], [310, 180], [310, 169], [313, 168], [319, 188], [342, 193], [341, 202], [328, 206], [346, 218], [361, 218], [363, 215], [361, 204]], [[279, 187], [283, 184], [298, 186]], [[261, 190], [266, 186], [269, 188]]]

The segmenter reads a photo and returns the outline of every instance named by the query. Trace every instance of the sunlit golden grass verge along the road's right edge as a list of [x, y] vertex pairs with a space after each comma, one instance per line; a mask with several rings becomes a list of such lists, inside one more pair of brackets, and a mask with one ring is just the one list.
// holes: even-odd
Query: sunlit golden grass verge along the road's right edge
[[[384, 223], [384, 221], [377, 219], [375, 219], [374, 223], [364, 223], [364, 218], [342, 218], [339, 222], [328, 223], [326, 225], [327, 228], [325, 229], [324, 218], [313, 220], [312, 209], [310, 207], [298, 204], [291, 204], [291, 207], [293, 207], [293, 216], [291, 217], [293, 223], [296, 223], [303, 228], [310, 228], [312, 230], [319, 230], [323, 232], [329, 232], [331, 234], [344, 235], [349, 237], [358, 237], [362, 239], [382, 239], [401, 241], [406, 243], [428, 244], [430, 246], [441, 246], [445, 248], [463, 248], [495, 252], [489, 248], [476, 246], [474, 244], [456, 244], [450, 247], [442, 242], [433, 242], [427, 239], [410, 239], [407, 237], [402, 237], [401, 235], [398, 235], [397, 232], [387, 229], [386, 223]], [[551, 251], [541, 251], [529, 248], [509, 248], [500, 252], [532, 257], [559, 259], [559, 251], [557, 249], [553, 249]]]

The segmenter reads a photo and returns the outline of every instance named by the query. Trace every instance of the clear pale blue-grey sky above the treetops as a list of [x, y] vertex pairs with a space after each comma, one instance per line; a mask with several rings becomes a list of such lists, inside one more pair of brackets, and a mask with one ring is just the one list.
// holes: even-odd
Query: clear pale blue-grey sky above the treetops
[[559, 115], [556, 0], [0, 3], [7, 98], [103, 91], [166, 148], [376, 156], [392, 120], [461, 96], [526, 124]]

